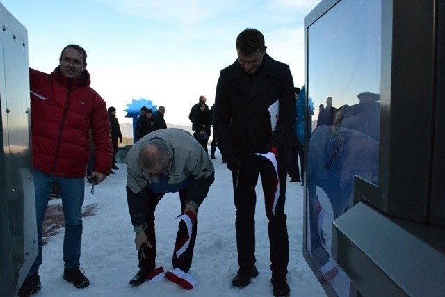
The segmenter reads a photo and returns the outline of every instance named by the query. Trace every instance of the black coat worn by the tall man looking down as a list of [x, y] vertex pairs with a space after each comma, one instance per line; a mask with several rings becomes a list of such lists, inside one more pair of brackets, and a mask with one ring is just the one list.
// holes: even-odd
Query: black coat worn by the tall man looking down
[[[283, 150], [296, 119], [293, 79], [289, 65], [264, 54], [263, 63], [249, 77], [238, 60], [221, 70], [216, 86], [213, 127], [223, 158], [235, 154], [241, 161], [271, 146]], [[268, 108], [279, 100], [279, 120], [275, 131]]]

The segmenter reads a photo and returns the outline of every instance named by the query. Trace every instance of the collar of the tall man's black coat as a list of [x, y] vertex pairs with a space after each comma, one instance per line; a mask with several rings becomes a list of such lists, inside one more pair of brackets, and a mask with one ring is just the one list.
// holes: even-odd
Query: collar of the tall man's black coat
[[[250, 100], [277, 81], [279, 74], [277, 68], [273, 67], [273, 61], [273, 58], [267, 53], [264, 54], [261, 70], [257, 74], [253, 86], [249, 81], [248, 74], [245, 73], [241, 65], [239, 65], [238, 59], [236, 59], [232, 65], [232, 71], [229, 73], [228, 79], [232, 82], [235, 88], [238, 88], [245, 93], [249, 93], [248, 100]], [[252, 86], [252, 88], [250, 88], [250, 86]]]

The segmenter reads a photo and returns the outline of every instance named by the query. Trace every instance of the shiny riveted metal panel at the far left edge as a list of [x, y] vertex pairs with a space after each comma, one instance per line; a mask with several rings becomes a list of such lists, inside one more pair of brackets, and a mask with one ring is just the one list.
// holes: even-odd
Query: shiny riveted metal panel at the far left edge
[[0, 291], [15, 296], [38, 255], [28, 33], [0, 3]]

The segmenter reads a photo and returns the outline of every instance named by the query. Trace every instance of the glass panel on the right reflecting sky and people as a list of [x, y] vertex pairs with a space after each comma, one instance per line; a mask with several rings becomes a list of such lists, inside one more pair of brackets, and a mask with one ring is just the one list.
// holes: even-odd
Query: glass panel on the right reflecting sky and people
[[330, 252], [332, 221], [353, 206], [356, 175], [378, 183], [381, 3], [340, 1], [309, 26], [308, 38], [307, 246], [347, 296], [349, 280]]

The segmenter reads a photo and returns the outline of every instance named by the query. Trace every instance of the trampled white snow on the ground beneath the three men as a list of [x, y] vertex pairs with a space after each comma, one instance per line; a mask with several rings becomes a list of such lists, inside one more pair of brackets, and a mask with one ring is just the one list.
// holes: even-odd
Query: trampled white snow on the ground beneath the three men
[[[95, 186], [86, 183], [83, 207], [93, 207], [95, 214], [83, 218], [81, 268], [90, 280], [90, 286], [76, 289], [63, 280], [63, 229], [49, 239], [43, 247], [43, 264], [40, 266], [42, 289], [35, 296], [272, 296], [267, 218], [261, 191], [257, 184], [256, 266], [257, 278], [244, 288], [232, 287], [232, 278], [238, 270], [236, 262], [235, 209], [231, 176], [216, 152], [216, 180], [202, 203], [191, 275], [198, 283], [187, 291], [165, 278], [161, 282], [145, 282], [132, 287], [129, 280], [138, 271], [137, 252], [133, 242], [125, 194], [127, 171], [125, 164], [103, 183]], [[289, 179], [288, 179], [289, 180]], [[61, 204], [60, 199], [49, 204]], [[288, 182], [286, 214], [289, 232], [289, 274], [291, 296], [325, 296], [302, 256], [303, 187]], [[177, 232], [175, 218], [180, 214], [177, 193], [166, 194], [156, 207], [156, 267], [172, 271], [172, 253]]]

